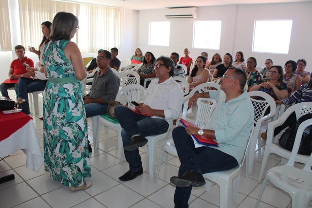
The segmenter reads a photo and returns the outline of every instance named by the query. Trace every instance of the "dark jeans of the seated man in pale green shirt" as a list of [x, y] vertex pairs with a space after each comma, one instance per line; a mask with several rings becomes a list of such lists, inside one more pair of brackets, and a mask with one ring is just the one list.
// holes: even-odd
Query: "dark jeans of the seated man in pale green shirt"
[[[175, 128], [172, 136], [181, 162], [179, 176], [183, 175], [186, 170], [195, 170], [203, 174], [230, 170], [239, 165], [233, 156], [218, 149], [210, 147], [195, 148], [192, 137], [185, 132], [184, 127]], [[191, 191], [192, 186], [187, 188], [176, 187], [174, 193], [175, 208], [188, 208], [187, 203]]]

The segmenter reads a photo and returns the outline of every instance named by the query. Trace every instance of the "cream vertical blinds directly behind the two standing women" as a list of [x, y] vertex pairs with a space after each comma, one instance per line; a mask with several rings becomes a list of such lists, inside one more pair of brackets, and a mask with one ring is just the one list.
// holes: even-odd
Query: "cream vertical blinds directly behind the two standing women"
[[[19, 17], [21, 29], [21, 44], [25, 46], [38, 46], [43, 38], [41, 23], [53, 21], [57, 12], [73, 13], [79, 19], [79, 4], [55, 0], [19, 0]], [[76, 41], [76, 35], [72, 41]], [[37, 46], [37, 47], [36, 47]]]

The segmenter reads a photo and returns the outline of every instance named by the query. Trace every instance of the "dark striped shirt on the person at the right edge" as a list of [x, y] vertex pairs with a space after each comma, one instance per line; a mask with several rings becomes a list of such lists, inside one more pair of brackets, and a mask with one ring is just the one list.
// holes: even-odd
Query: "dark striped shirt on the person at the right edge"
[[312, 90], [308, 84], [301, 85], [299, 90], [282, 101], [286, 106], [294, 102], [312, 102]]

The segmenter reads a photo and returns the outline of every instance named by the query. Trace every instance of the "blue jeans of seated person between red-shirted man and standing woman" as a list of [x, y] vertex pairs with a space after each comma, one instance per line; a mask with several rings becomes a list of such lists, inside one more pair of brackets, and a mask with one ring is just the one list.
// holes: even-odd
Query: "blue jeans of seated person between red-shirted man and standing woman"
[[24, 104], [21, 104], [20, 107], [22, 112], [25, 114], [29, 114], [29, 103], [28, 103], [28, 93], [36, 92], [36, 91], [43, 91], [47, 80], [41, 79], [30, 79], [20, 77], [18, 79], [18, 97], [23, 98], [26, 100]]

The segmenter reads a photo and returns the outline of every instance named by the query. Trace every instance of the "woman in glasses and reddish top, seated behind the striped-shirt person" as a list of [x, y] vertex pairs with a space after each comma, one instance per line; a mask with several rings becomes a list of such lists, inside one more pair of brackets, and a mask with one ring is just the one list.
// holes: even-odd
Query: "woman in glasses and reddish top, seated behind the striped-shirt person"
[[295, 61], [289, 60], [285, 63], [284, 82], [287, 85], [288, 96], [292, 95], [301, 86], [300, 76], [294, 74], [296, 69], [297, 63]]

